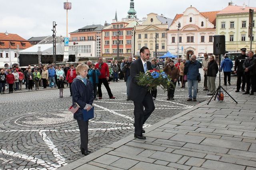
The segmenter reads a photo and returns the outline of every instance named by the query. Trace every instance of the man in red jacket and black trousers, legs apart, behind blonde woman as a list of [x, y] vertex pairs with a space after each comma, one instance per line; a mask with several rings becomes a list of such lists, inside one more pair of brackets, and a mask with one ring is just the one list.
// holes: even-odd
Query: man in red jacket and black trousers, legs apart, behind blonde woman
[[106, 87], [106, 90], [108, 91], [109, 98], [115, 99], [116, 97], [112, 95], [112, 92], [108, 85], [108, 79], [109, 79], [108, 64], [103, 62], [102, 57], [99, 57], [98, 63], [95, 65], [95, 68], [99, 69], [101, 73], [101, 75], [99, 76], [99, 83], [98, 83], [99, 99], [102, 99], [102, 91], [101, 91], [102, 83], [104, 84], [104, 86]]

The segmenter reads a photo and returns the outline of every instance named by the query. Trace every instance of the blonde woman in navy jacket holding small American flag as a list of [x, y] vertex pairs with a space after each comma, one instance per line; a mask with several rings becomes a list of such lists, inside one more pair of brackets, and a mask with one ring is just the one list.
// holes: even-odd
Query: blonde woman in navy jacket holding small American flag
[[94, 99], [93, 86], [90, 80], [87, 79], [88, 65], [79, 64], [76, 67], [76, 78], [72, 82], [72, 103], [79, 105], [78, 111], [74, 114], [74, 119], [77, 120], [80, 130], [81, 145], [80, 149], [85, 156], [90, 154], [88, 150], [88, 122], [84, 121], [83, 109], [89, 111], [92, 109]]

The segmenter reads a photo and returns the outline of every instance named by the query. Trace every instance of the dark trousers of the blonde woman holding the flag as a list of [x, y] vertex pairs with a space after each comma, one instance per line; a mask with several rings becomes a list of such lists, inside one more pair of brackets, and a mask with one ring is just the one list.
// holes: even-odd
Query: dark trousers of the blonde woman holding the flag
[[77, 120], [78, 127], [80, 130], [80, 146], [85, 150], [88, 151], [88, 123], [89, 121], [84, 120]]

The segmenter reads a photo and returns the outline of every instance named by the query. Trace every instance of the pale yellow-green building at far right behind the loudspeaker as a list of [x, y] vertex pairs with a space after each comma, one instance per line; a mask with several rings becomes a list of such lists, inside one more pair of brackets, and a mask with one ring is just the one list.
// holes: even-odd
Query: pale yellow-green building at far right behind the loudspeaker
[[[253, 18], [256, 19], [256, 8], [229, 5], [216, 16], [216, 35], [226, 37], [226, 51], [237, 52], [241, 48], [250, 51], [250, 38], [248, 37], [249, 9], [254, 10]], [[252, 51], [256, 51], [255, 26], [253, 21]]]

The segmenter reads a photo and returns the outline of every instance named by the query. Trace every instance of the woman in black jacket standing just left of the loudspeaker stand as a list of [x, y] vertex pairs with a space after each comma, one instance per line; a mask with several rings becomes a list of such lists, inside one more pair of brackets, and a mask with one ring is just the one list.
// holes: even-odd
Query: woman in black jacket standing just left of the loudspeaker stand
[[207, 78], [208, 78], [208, 89], [209, 93], [207, 95], [213, 95], [216, 89], [215, 79], [218, 73], [218, 64], [214, 60], [214, 56], [210, 56], [210, 62], [207, 66]]

